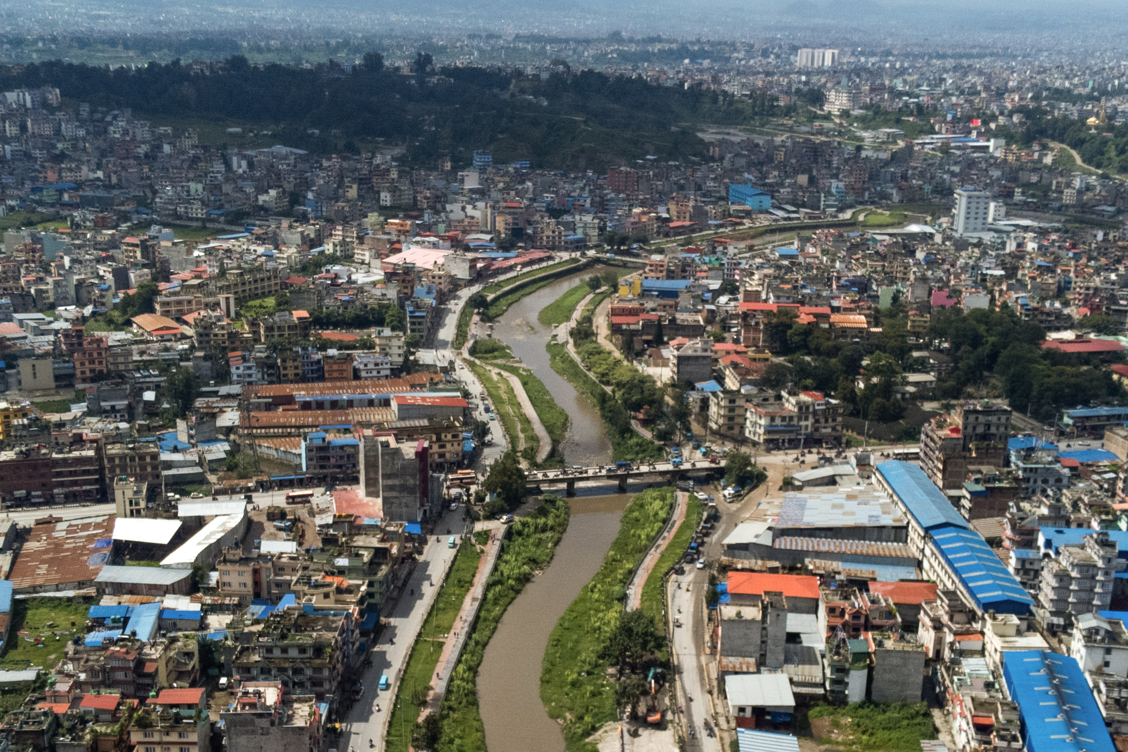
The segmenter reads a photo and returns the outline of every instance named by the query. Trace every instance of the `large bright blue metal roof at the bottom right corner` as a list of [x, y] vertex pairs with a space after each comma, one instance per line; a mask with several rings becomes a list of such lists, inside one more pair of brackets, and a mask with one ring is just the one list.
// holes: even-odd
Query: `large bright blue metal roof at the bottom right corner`
[[1049, 651], [1003, 653], [1003, 679], [1019, 705], [1026, 752], [1114, 752], [1077, 661]]

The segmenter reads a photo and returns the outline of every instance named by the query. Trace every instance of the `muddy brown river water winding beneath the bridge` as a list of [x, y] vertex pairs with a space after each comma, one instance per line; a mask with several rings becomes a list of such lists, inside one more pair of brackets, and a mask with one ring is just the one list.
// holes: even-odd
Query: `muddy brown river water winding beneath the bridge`
[[[548, 365], [545, 345], [553, 327], [541, 326], [537, 313], [580, 281], [599, 269], [564, 277], [518, 301], [494, 325], [494, 338], [540, 379], [556, 404], [569, 414], [563, 452], [569, 465], [603, 465], [611, 445], [599, 412]], [[614, 489], [614, 486], [611, 487]], [[490, 752], [564, 752], [559, 725], [540, 702], [540, 664], [553, 627], [567, 605], [599, 570], [618, 534], [619, 519], [629, 495], [599, 495], [578, 489], [570, 499], [572, 517], [548, 568], [534, 577], [505, 611], [486, 646], [478, 672], [478, 705]]]

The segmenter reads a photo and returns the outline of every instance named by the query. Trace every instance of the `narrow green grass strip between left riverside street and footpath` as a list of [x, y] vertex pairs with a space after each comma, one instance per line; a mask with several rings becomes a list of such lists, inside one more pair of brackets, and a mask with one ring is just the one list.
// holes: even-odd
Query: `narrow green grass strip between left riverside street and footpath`
[[411, 746], [412, 731], [426, 704], [431, 678], [434, 676], [439, 656], [442, 654], [443, 640], [434, 638], [449, 635], [453, 628], [455, 618], [462, 608], [466, 593], [474, 584], [474, 573], [477, 572], [481, 558], [478, 549], [465, 540], [455, 555], [450, 574], [435, 595], [434, 604], [428, 613], [426, 621], [423, 622], [415, 645], [412, 646], [407, 667], [399, 681], [399, 692], [396, 695], [396, 704], [388, 723], [385, 746], [388, 752], [407, 752]]

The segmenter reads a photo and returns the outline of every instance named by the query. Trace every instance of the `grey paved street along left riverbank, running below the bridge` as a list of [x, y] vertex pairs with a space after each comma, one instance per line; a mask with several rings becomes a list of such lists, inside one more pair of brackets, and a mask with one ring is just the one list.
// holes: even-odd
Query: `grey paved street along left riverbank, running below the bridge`
[[[442, 521], [435, 524], [435, 530], [441, 533], [448, 528], [451, 532], [461, 531], [465, 524], [461, 515], [461, 511], [446, 512]], [[429, 537], [426, 549], [405, 585], [407, 590], [391, 613], [382, 614], [384, 632], [370, 654], [372, 667], [364, 672], [364, 691], [343, 724], [340, 752], [364, 752], [370, 749], [369, 740], [376, 743], [377, 750], [384, 749], [384, 724], [387, 723], [386, 716], [391, 713], [391, 701], [398, 685], [393, 683], [390, 689], [380, 691], [380, 675], [386, 673], [389, 680], [398, 682], [415, 637], [431, 610], [439, 585], [442, 584], [443, 572], [458, 552], [457, 548], [448, 547], [448, 538], [447, 534], [440, 534], [438, 539]], [[437, 644], [435, 649], [441, 649], [441, 645]], [[376, 710], [377, 706], [379, 710]], [[412, 723], [414, 722], [412, 718]]]

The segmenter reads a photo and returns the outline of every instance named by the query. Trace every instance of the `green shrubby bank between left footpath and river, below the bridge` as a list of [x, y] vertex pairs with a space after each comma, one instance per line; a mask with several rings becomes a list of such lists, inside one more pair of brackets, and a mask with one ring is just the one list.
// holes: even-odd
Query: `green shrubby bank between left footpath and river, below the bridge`
[[478, 711], [478, 669], [486, 645], [497, 630], [509, 608], [556, 552], [556, 545], [567, 529], [569, 506], [556, 496], [545, 496], [545, 503], [532, 514], [517, 520], [502, 543], [493, 574], [486, 581], [485, 600], [478, 609], [474, 631], [462, 648], [462, 655], [447, 687], [439, 710], [441, 735], [438, 752], [486, 752], [485, 731]]

